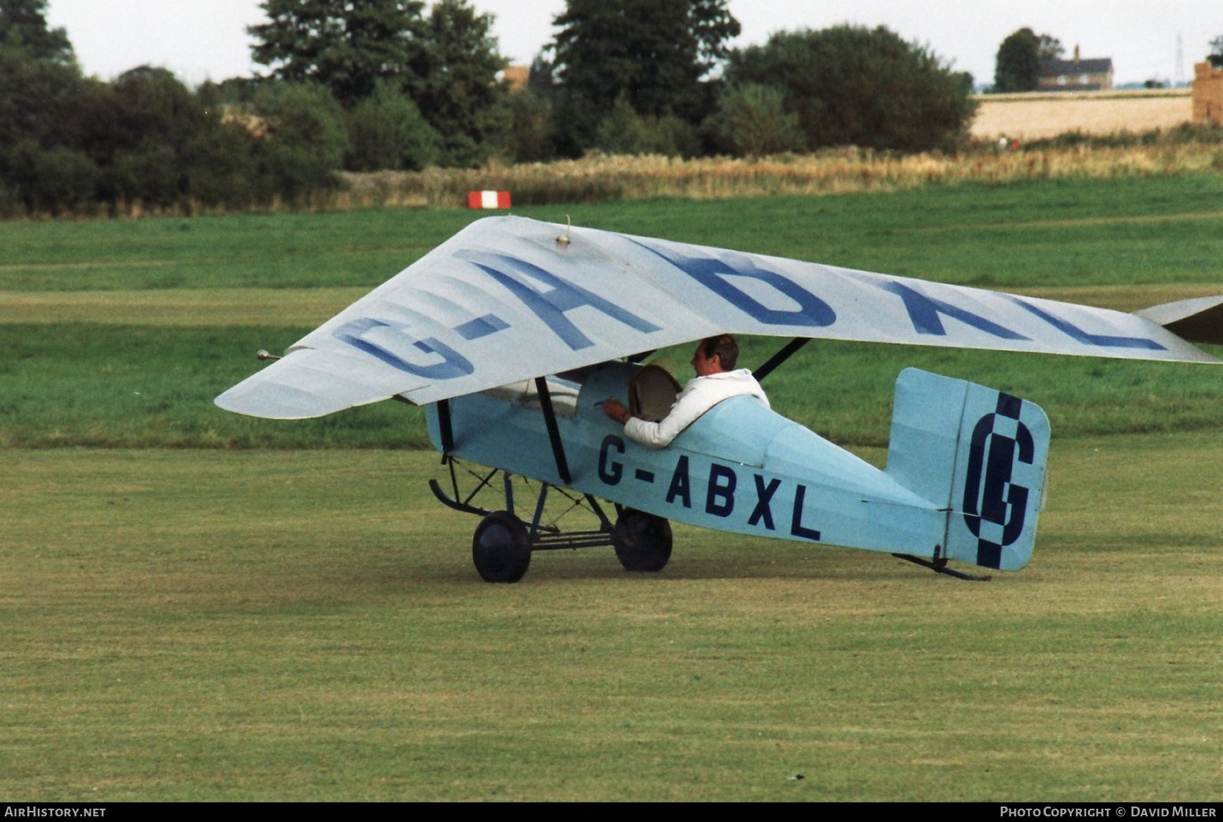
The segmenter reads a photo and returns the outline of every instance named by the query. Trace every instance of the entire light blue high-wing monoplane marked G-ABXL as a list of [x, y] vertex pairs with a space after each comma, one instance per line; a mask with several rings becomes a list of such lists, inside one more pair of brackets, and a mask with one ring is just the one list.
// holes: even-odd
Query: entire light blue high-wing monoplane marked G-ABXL
[[[598, 404], [665, 416], [679, 385], [651, 352], [731, 333], [791, 338], [757, 379], [812, 338], [1142, 360], [1217, 362], [1223, 296], [1126, 314], [521, 218], [472, 223], [216, 398], [297, 420], [385, 399], [427, 406], [450, 466], [451, 508], [482, 517], [481, 576], [514, 582], [533, 550], [612, 546], [660, 570], [669, 520], [718, 531], [881, 550], [958, 576], [948, 560], [1018, 570], [1032, 553], [1049, 426], [1032, 402], [905, 369], [879, 471], [747, 396], [663, 449], [626, 438]], [[503, 476], [503, 510], [462, 494], [455, 460]], [[511, 476], [542, 483], [515, 513]], [[597, 527], [542, 522], [549, 489]], [[478, 488], [477, 488], [478, 491]], [[614, 505], [614, 521], [598, 500]]]

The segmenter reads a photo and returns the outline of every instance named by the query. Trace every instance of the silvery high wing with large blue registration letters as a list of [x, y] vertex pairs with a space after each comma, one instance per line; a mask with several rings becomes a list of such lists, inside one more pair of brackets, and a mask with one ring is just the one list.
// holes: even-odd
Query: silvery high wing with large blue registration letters
[[396, 395], [427, 404], [719, 333], [1218, 362], [1161, 322], [497, 217], [468, 225], [216, 404], [283, 420]]

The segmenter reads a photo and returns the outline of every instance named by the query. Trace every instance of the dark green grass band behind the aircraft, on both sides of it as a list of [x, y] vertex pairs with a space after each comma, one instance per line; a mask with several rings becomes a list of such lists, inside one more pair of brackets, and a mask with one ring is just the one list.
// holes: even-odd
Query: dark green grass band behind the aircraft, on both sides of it
[[[279, 422], [221, 412], [213, 398], [308, 328], [0, 324], [0, 446], [428, 448], [421, 409], [380, 402]], [[742, 340], [763, 363], [783, 340]], [[664, 351], [686, 373], [690, 346]], [[838, 443], [884, 445], [907, 366], [1030, 399], [1059, 437], [1223, 427], [1223, 372], [991, 351], [813, 341], [766, 389], [773, 407]]]

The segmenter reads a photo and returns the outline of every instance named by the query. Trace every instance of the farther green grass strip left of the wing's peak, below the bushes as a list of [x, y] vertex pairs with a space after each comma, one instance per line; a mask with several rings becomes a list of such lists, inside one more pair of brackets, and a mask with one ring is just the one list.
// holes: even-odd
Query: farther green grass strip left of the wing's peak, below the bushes
[[0, 223], [0, 290], [373, 286], [466, 212]]

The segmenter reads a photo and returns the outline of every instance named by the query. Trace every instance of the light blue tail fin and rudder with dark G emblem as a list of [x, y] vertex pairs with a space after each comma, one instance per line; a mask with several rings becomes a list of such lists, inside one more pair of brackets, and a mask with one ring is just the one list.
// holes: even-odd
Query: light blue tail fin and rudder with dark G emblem
[[1048, 450], [1049, 421], [1033, 402], [917, 368], [896, 378], [887, 472], [948, 513], [948, 559], [1027, 564]]

